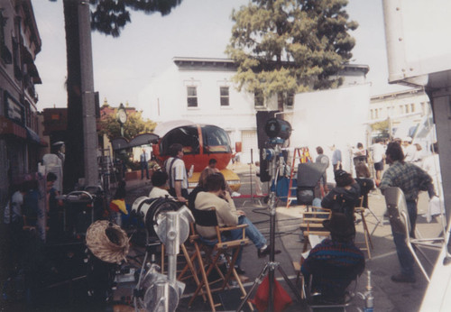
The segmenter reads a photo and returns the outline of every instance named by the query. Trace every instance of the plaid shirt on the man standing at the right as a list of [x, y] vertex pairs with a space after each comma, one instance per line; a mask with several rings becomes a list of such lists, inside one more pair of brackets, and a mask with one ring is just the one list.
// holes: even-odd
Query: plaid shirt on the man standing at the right
[[400, 188], [406, 200], [415, 201], [420, 190], [428, 190], [432, 178], [425, 170], [409, 162], [394, 161], [383, 173], [379, 186], [381, 190], [389, 187]]

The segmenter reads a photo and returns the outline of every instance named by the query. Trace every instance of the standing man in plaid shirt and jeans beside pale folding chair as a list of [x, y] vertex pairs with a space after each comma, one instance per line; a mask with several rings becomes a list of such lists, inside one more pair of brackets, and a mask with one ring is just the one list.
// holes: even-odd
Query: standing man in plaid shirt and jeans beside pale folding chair
[[[384, 172], [379, 188], [381, 188], [382, 194], [384, 189], [389, 187], [400, 188], [404, 192], [410, 218], [410, 236], [414, 236], [419, 191], [427, 190], [431, 198], [436, 196], [432, 178], [425, 170], [404, 161], [404, 153], [399, 143], [389, 143], [385, 154], [390, 168]], [[396, 233], [393, 228], [391, 228], [391, 233], [400, 261], [400, 274], [392, 275], [391, 280], [413, 283], [416, 281], [413, 271], [414, 259], [407, 247], [405, 234]]]

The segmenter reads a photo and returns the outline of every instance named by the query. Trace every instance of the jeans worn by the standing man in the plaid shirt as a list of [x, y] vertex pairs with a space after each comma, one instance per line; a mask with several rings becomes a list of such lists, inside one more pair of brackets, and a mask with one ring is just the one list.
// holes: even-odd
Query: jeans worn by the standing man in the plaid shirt
[[[415, 234], [415, 225], [417, 223], [417, 203], [414, 201], [407, 202], [407, 210], [410, 218], [410, 236]], [[400, 261], [400, 272], [403, 275], [413, 277], [415, 272], [413, 271], [413, 263], [415, 262], [413, 256], [406, 243], [406, 235], [395, 233], [393, 234], [393, 242], [396, 246], [396, 252], [398, 253], [398, 260]]]

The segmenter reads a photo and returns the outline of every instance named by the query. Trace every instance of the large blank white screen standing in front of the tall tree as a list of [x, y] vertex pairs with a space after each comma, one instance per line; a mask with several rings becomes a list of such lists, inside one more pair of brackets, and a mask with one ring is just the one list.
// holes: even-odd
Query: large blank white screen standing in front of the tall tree
[[[369, 85], [296, 95], [290, 148], [307, 146], [315, 160], [316, 147], [321, 146], [332, 160], [329, 147], [335, 144], [342, 151], [343, 169], [352, 172], [351, 149], [357, 142], [366, 142], [369, 105]], [[332, 164], [327, 179], [334, 179]]]

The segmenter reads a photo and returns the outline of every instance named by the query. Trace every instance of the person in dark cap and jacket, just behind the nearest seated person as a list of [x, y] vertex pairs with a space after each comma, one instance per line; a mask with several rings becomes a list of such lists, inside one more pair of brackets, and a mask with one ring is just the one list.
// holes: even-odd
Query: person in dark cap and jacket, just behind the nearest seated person
[[336, 187], [323, 198], [321, 206], [345, 214], [354, 227], [354, 207], [360, 197], [360, 187], [345, 170], [336, 170], [334, 174]]

